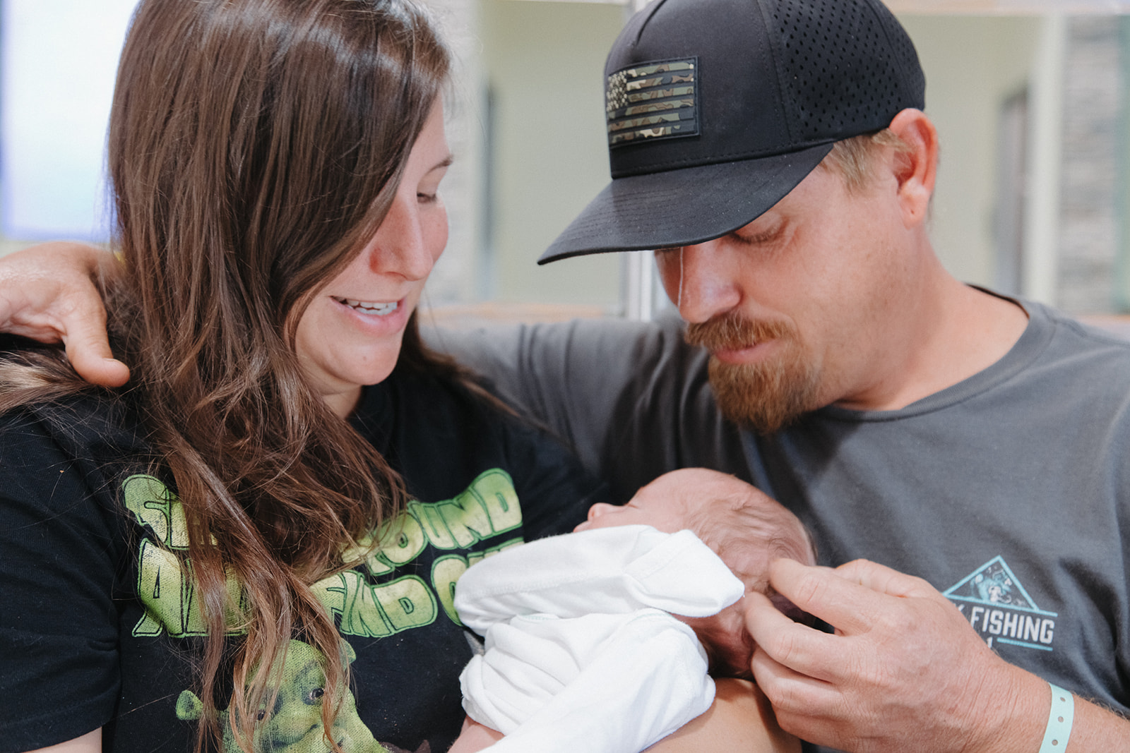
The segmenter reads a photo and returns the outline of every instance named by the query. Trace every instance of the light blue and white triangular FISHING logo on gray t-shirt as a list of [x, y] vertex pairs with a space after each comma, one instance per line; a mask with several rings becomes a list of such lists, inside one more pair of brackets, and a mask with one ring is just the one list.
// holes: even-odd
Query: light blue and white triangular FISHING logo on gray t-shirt
[[942, 595], [957, 605], [990, 648], [1006, 643], [1052, 650], [1058, 613], [1036, 605], [1002, 557], [989, 560]]

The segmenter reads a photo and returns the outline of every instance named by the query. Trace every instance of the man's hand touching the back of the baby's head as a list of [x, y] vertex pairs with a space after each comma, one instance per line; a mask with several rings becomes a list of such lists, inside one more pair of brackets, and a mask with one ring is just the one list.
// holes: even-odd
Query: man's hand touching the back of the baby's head
[[1040, 747], [1048, 684], [998, 657], [927, 581], [866, 560], [836, 570], [776, 560], [770, 572], [777, 592], [836, 629], [794, 623], [747, 595], [754, 676], [782, 728], [845, 751]]

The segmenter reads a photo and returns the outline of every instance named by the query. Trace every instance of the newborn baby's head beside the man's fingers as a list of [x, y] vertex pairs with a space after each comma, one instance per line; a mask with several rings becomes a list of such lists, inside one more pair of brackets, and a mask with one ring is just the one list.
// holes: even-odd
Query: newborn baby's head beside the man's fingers
[[[643, 524], [666, 533], [687, 528], [746, 584], [746, 593], [768, 592], [768, 566], [776, 558], [816, 564], [816, 552], [800, 519], [745, 481], [706, 469], [666, 473], [623, 507], [593, 505], [577, 531]], [[786, 601], [768, 594], [789, 613]], [[747, 677], [754, 645], [746, 631], [742, 601], [710, 618], [679, 618], [698, 634], [714, 674]]]

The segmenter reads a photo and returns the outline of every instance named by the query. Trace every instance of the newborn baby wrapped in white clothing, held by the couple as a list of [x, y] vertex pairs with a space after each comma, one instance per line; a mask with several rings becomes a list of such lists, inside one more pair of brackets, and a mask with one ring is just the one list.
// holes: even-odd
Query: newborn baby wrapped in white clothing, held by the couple
[[506, 735], [497, 753], [652, 745], [710, 707], [707, 668], [750, 676], [742, 599], [766, 592], [780, 557], [815, 563], [796, 516], [733, 476], [688, 469], [623, 507], [594, 505], [574, 534], [476, 564], [455, 606], [486, 653], [461, 677], [469, 723], [452, 752], [483, 750], [490, 730]]

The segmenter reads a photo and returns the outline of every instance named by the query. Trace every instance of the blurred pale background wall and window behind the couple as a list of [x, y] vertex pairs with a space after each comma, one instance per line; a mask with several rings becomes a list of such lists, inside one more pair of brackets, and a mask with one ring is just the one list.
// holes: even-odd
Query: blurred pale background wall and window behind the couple
[[[428, 301], [623, 314], [640, 287], [631, 255], [533, 262], [608, 181], [603, 60], [629, 8], [431, 2], [458, 75], [452, 235]], [[946, 266], [1072, 313], [1130, 313], [1130, 19], [1119, 15], [1130, 0], [888, 2], [918, 46], [941, 137], [931, 222]], [[0, 0], [0, 249], [107, 239], [101, 145], [132, 5]]]

